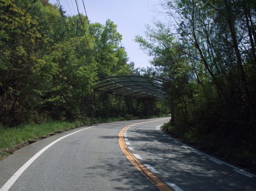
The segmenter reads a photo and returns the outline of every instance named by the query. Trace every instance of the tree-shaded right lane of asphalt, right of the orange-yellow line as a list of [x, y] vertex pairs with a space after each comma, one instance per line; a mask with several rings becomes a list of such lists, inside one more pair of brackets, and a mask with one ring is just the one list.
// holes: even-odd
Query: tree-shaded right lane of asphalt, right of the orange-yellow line
[[160, 178], [184, 190], [254, 190], [256, 182], [225, 164], [212, 162], [189, 147], [156, 130], [127, 131], [127, 137], [142, 162], [160, 172]]

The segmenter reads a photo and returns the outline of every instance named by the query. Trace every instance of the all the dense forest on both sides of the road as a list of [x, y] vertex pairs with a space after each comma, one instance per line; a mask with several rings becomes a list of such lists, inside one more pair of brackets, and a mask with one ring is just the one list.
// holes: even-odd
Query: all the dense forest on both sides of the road
[[[98, 79], [140, 75], [117, 26], [65, 15], [47, 0], [0, 0], [0, 117], [24, 122], [168, 113], [167, 128], [256, 169], [256, 2], [162, 0], [136, 36], [144, 76], [163, 80], [166, 100], [93, 95]], [[95, 96], [95, 99], [94, 99]]]

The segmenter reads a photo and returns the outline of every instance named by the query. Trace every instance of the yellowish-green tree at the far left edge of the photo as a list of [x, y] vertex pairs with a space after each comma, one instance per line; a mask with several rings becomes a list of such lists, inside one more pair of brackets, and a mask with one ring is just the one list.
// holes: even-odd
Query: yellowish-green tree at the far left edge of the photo
[[42, 63], [35, 47], [43, 39], [36, 20], [14, 1], [0, 2], [0, 25], [0, 116], [11, 124], [21, 120], [39, 96], [31, 87], [37, 86], [34, 67]]

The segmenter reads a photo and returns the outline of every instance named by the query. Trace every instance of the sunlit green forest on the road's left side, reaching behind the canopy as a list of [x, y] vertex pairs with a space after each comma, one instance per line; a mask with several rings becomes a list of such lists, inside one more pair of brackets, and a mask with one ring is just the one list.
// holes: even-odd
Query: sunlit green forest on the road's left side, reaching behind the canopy
[[0, 1], [2, 125], [168, 113], [163, 101], [94, 95], [98, 79], [139, 75], [139, 69], [111, 20], [88, 22], [48, 1]]

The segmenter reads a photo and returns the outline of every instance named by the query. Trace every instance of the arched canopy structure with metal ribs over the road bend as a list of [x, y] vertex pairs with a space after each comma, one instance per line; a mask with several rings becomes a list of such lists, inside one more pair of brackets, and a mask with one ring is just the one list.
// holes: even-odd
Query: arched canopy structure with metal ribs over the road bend
[[163, 98], [166, 94], [162, 82], [137, 76], [109, 77], [99, 80], [93, 90], [142, 99]]

